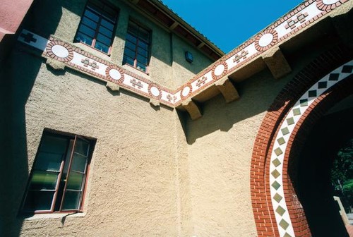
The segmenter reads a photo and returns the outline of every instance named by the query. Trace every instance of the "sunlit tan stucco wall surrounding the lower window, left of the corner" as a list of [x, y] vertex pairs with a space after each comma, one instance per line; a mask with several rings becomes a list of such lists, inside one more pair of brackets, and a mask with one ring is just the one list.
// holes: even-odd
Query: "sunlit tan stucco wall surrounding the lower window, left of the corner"
[[[177, 166], [179, 157], [185, 159], [186, 154], [177, 152], [175, 145], [182, 146], [186, 140], [175, 133], [178, 123], [180, 126], [175, 112], [164, 107], [154, 109], [127, 92], [115, 95], [102, 83], [80, 73], [47, 70], [41, 59], [17, 53], [16, 63], [26, 65], [32, 61], [32, 65], [11, 71], [11, 79], [20, 80], [21, 75], [28, 75], [28, 80], [36, 77], [25, 104], [23, 135], [27, 140], [28, 171], [44, 128], [97, 138], [85, 216], [71, 216], [64, 221], [26, 219], [21, 235], [178, 236], [177, 212], [181, 207], [177, 206]], [[38, 71], [33, 71], [35, 66]], [[20, 183], [26, 182], [23, 176]], [[25, 186], [20, 186], [18, 196], [24, 193]], [[16, 209], [20, 199], [16, 198]], [[22, 221], [20, 217], [16, 220]]]

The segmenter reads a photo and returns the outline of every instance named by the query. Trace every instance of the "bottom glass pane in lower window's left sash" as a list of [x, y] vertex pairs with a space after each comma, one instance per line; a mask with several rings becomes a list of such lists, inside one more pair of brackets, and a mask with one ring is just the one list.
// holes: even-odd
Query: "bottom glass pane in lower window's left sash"
[[49, 211], [53, 197], [54, 191], [29, 191], [23, 209], [26, 212]]

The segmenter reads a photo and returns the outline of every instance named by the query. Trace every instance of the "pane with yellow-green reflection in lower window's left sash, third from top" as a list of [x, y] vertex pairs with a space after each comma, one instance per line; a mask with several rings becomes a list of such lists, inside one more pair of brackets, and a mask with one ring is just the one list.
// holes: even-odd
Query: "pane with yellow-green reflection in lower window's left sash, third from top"
[[58, 174], [46, 171], [34, 171], [30, 179], [30, 189], [42, 190], [49, 189], [55, 190]]

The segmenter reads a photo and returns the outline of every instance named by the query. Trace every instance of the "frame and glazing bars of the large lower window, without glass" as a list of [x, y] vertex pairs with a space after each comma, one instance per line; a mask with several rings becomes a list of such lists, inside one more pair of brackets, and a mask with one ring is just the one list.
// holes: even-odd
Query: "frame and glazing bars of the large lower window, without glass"
[[[56, 184], [55, 184], [55, 189], [54, 190], [35, 190], [35, 189], [31, 189], [31, 181], [32, 181], [32, 177], [34, 176], [36, 171], [42, 171], [41, 169], [36, 169], [35, 167], [37, 166], [37, 163], [39, 163], [39, 155], [42, 151], [42, 145], [43, 145], [43, 141], [44, 138], [47, 137], [54, 137], [54, 138], [58, 138], [58, 139], [63, 139], [66, 140], [67, 144], [66, 144], [66, 150], [63, 154], [63, 157], [61, 158], [61, 164], [60, 164], [60, 168], [59, 168], [59, 174], [56, 178]], [[82, 140], [86, 143], [88, 143], [88, 150], [87, 150], [87, 155], [86, 155], [86, 163], [85, 163], [85, 169], [83, 172], [80, 171], [76, 171], [71, 169], [72, 164], [73, 164], [73, 156], [74, 154], [76, 155], [80, 155], [79, 152], [76, 151], [76, 148], [78, 146], [76, 146], [76, 144], [78, 144], [78, 140]], [[72, 145], [70, 144], [73, 141]], [[33, 214], [50, 214], [50, 213], [73, 213], [73, 212], [83, 212], [83, 206], [85, 203], [85, 195], [87, 192], [87, 186], [88, 186], [88, 177], [90, 174], [90, 162], [92, 160], [92, 154], [93, 154], [93, 150], [95, 149], [95, 143], [96, 143], [96, 139], [95, 138], [88, 138], [88, 137], [83, 137], [81, 135], [76, 135], [76, 134], [72, 134], [72, 133], [64, 133], [61, 131], [57, 131], [57, 130], [52, 130], [49, 128], [44, 128], [44, 131], [42, 133], [42, 138], [40, 141], [40, 145], [37, 149], [37, 153], [35, 156], [35, 161], [33, 162], [32, 165], [32, 169], [30, 172], [30, 176], [28, 178], [28, 184], [27, 184], [27, 188], [25, 190], [25, 194], [23, 196], [23, 202], [20, 208], [20, 213], [23, 214], [28, 214], [28, 213], [33, 213]], [[69, 157], [69, 159], [67, 159]], [[64, 166], [66, 166], [67, 164], [67, 170], [66, 170], [66, 177], [63, 177], [64, 174]], [[46, 170], [47, 172], [50, 172], [50, 170]], [[81, 173], [83, 174], [83, 179], [80, 183], [80, 189], [79, 190], [71, 190], [70, 188], [68, 188], [68, 182], [70, 181], [70, 175], [73, 173]], [[66, 178], [64, 181], [62, 180], [62, 178]], [[73, 176], [74, 178], [74, 176]], [[64, 183], [63, 183], [64, 182]], [[64, 186], [64, 189], [62, 189]], [[53, 192], [53, 197], [52, 197], [52, 201], [51, 201], [51, 205], [50, 205], [50, 209], [26, 209], [25, 205], [27, 203], [27, 198], [28, 198], [28, 194], [30, 192], [43, 192], [44, 193], [47, 191], [49, 192]], [[80, 197], [78, 200], [78, 207], [77, 208], [66, 208], [64, 209], [63, 205], [64, 205], [64, 200], [66, 197], [66, 191], [68, 192], [76, 192], [76, 193], [80, 193]], [[43, 194], [44, 194], [43, 193]], [[59, 196], [60, 195], [60, 196]], [[29, 200], [30, 202], [30, 200]], [[59, 206], [59, 209], [58, 209]]]

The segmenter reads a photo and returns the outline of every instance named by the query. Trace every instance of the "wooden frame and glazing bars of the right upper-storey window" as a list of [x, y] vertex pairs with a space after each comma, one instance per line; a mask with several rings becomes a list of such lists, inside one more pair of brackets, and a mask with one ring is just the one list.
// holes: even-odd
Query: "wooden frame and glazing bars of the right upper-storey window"
[[[138, 34], [134, 34], [130, 28], [130, 25], [134, 24], [138, 26]], [[145, 32], [148, 32], [148, 41], [146, 42], [145, 40], [140, 38], [140, 32], [141, 29], [144, 30]], [[131, 35], [132, 37], [136, 38], [136, 43], [131, 42], [131, 40], [128, 40], [128, 35]], [[133, 44], [134, 49], [128, 47], [128, 42]], [[143, 42], [144, 44], [147, 45], [147, 49], [143, 49], [142, 47], [140, 47], [140, 42]], [[149, 73], [149, 68], [150, 68], [150, 50], [151, 50], [151, 45], [152, 45], [152, 30], [145, 28], [143, 25], [141, 25], [140, 23], [136, 22], [135, 20], [129, 20], [128, 21], [128, 29], [126, 31], [126, 39], [125, 39], [125, 47], [124, 47], [124, 56], [123, 56], [123, 64], [126, 64], [128, 66], [132, 66], [133, 68], [138, 69], [139, 71], [143, 71], [143, 73]], [[138, 54], [138, 48], [140, 47], [140, 49], [143, 49], [145, 51], [147, 51], [147, 56], [143, 56], [141, 54]], [[131, 58], [131, 56], [128, 56], [126, 54], [126, 50], [130, 50], [133, 51], [134, 57], [133, 59]], [[139, 56], [143, 56], [143, 58], [146, 59], [146, 63], [142, 63], [140, 61], [138, 61], [138, 55]], [[126, 61], [126, 57], [128, 57], [129, 59], [131, 59], [131, 61], [133, 61], [133, 63], [128, 63]], [[143, 69], [138, 68], [138, 63], [143, 64], [145, 66], [145, 71]]]

